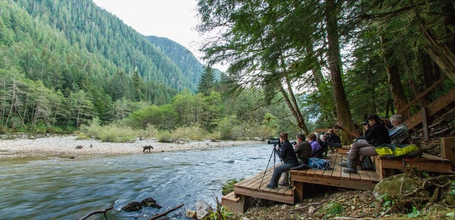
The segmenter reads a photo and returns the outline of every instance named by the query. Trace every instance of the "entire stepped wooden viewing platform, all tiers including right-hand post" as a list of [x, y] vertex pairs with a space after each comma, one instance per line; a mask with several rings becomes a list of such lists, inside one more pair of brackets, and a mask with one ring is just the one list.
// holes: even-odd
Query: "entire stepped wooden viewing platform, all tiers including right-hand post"
[[[395, 174], [397, 170], [404, 170], [408, 165], [419, 167], [427, 172], [453, 173], [451, 167], [455, 167], [455, 138], [441, 138], [441, 149], [445, 158], [425, 154], [421, 158], [386, 158], [372, 157], [375, 163], [375, 171], [358, 170], [358, 174], [344, 173], [341, 163], [347, 158], [347, 150], [339, 148], [337, 153], [328, 154], [326, 159], [331, 162], [328, 170], [291, 170], [291, 186], [279, 186], [277, 189], [267, 188], [272, 178], [274, 168], [270, 167], [264, 172], [234, 185], [234, 192], [222, 198], [225, 209], [243, 213], [246, 211], [245, 198], [255, 197], [268, 199], [286, 204], [295, 204], [304, 199], [305, 184], [326, 185], [348, 189], [373, 190], [376, 183], [385, 177]], [[273, 166], [273, 165], [272, 165]], [[283, 178], [283, 175], [282, 175]]]

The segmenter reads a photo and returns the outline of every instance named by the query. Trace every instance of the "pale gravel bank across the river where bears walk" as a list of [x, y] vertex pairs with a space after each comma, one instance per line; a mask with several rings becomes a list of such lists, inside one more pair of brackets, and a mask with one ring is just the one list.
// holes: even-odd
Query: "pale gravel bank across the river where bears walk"
[[[133, 143], [105, 143], [97, 140], [78, 140], [75, 136], [43, 138], [0, 139], [0, 159], [20, 157], [91, 158], [136, 153], [157, 153], [193, 150], [220, 146], [264, 143], [262, 141], [175, 141], [161, 143], [156, 139], [137, 140]], [[153, 149], [144, 152], [144, 146]]]

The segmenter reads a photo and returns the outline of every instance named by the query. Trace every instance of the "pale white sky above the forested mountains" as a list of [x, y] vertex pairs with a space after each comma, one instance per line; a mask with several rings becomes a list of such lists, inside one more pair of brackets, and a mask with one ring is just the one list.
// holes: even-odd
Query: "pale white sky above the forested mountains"
[[197, 0], [93, 0], [142, 35], [169, 38], [201, 60]]

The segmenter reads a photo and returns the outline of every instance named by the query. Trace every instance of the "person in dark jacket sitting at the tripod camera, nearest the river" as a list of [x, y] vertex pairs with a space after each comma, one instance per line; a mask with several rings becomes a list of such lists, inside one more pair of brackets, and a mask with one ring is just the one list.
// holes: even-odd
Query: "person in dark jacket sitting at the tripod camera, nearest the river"
[[[279, 177], [282, 176], [283, 172], [291, 170], [291, 167], [296, 167], [299, 165], [299, 161], [297, 160], [296, 154], [294, 153], [294, 147], [292, 144], [289, 143], [287, 139], [287, 133], [279, 133], [279, 142], [281, 144], [281, 148], [277, 148], [277, 155], [279, 158], [282, 159], [283, 164], [279, 165], [274, 168], [272, 179], [270, 183], [267, 185], [267, 188], [274, 189], [278, 187]], [[287, 180], [280, 185], [287, 185]]]

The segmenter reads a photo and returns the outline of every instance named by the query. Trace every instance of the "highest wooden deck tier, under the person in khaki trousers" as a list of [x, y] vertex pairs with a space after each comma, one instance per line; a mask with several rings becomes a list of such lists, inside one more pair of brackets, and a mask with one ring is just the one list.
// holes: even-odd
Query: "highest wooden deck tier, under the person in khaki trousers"
[[381, 180], [395, 175], [396, 170], [405, 170], [407, 166], [419, 167], [427, 172], [451, 173], [450, 160], [428, 153], [424, 153], [421, 158], [387, 158], [378, 155], [371, 159]]

